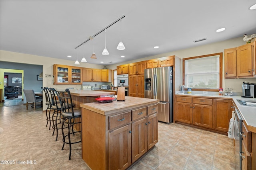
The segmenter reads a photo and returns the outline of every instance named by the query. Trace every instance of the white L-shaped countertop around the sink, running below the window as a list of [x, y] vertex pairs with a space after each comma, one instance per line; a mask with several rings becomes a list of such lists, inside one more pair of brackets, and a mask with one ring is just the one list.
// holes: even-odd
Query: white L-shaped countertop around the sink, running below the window
[[244, 106], [239, 104], [237, 100], [252, 100], [256, 102], [256, 98], [242, 98], [241, 96], [219, 96], [219, 95], [204, 95], [204, 94], [176, 94], [175, 96], [186, 96], [186, 97], [204, 97], [212, 99], [228, 99], [233, 100], [236, 104], [242, 119], [248, 125], [248, 130], [256, 133], [256, 107]]

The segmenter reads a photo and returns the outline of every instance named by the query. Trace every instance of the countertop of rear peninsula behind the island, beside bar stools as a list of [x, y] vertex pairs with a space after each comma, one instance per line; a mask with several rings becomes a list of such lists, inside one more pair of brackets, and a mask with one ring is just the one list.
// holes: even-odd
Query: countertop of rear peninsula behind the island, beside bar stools
[[114, 95], [115, 92], [104, 92], [104, 91], [95, 91], [95, 90], [74, 90], [70, 89], [70, 94], [74, 96], [107, 96]]

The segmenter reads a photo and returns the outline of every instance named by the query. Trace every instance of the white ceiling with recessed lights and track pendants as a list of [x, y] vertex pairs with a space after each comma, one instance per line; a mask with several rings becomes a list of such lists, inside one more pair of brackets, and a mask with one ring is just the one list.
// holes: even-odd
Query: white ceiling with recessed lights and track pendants
[[[255, 0], [0, 0], [0, 49], [76, 60], [76, 47], [121, 16], [120, 22], [78, 48], [81, 61], [117, 64], [256, 33]], [[226, 27], [223, 32], [216, 29]], [[194, 40], [207, 38], [194, 43]], [[154, 46], [159, 46], [154, 49]], [[68, 58], [71, 55], [72, 58]], [[124, 58], [120, 56], [124, 55]], [[100, 63], [103, 61], [104, 63]], [[109, 62], [113, 63], [109, 63]], [[49, 61], [50, 62], [50, 61]]]

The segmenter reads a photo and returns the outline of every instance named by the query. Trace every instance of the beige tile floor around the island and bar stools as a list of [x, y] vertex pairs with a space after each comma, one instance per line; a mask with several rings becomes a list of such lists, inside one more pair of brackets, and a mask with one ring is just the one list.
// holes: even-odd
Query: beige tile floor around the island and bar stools
[[[71, 160], [68, 146], [62, 148], [46, 125], [42, 108], [26, 110], [25, 105], [0, 107], [0, 170], [82, 169], [89, 170], [81, 158], [81, 143], [72, 145]], [[225, 135], [203, 131], [176, 123], [158, 123], [159, 142], [130, 170], [236, 170], [233, 141]], [[27, 164], [27, 160], [36, 164]], [[19, 162], [20, 161], [20, 162]], [[25, 161], [26, 164], [21, 164]]]

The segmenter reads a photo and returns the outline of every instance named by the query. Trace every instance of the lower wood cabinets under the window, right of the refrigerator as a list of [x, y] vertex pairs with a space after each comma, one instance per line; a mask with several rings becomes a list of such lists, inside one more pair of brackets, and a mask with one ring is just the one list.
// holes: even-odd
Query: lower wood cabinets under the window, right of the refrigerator
[[232, 100], [176, 96], [175, 121], [226, 134]]

